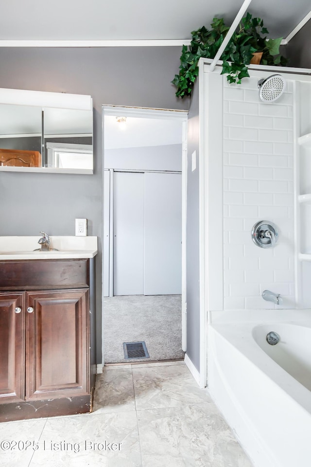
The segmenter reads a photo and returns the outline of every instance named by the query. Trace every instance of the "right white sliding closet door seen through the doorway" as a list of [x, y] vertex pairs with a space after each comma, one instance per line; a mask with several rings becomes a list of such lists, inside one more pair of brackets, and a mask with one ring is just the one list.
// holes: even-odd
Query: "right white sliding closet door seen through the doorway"
[[181, 216], [181, 174], [145, 173], [145, 295], [181, 293]]

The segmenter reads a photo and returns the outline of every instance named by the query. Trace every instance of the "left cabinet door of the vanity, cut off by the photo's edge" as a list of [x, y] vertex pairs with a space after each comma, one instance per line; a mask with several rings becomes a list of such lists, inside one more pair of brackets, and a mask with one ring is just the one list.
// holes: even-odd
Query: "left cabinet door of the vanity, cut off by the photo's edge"
[[0, 293], [0, 403], [24, 399], [24, 303], [23, 293]]

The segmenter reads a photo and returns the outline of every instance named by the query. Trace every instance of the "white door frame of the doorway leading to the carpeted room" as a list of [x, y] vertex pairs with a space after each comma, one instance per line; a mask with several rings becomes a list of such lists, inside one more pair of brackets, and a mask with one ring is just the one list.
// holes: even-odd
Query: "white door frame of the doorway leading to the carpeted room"
[[[186, 220], [187, 220], [187, 119], [188, 110], [174, 110], [162, 108], [127, 107], [102, 105], [102, 177], [103, 177], [103, 238], [104, 238], [104, 117], [140, 117], [157, 119], [177, 119], [182, 122], [182, 350], [187, 350], [187, 278], [186, 278]], [[110, 226], [111, 233], [111, 226]], [[110, 257], [111, 261], [111, 257]], [[102, 264], [104, 262], [104, 248], [102, 252]], [[112, 268], [110, 267], [111, 271]], [[109, 283], [111, 284], [111, 278]], [[111, 293], [111, 287], [109, 288]], [[102, 304], [104, 304], [104, 281], [102, 287]], [[104, 325], [104, 306], [102, 306], [102, 323]], [[102, 355], [104, 366], [104, 333], [102, 331]]]

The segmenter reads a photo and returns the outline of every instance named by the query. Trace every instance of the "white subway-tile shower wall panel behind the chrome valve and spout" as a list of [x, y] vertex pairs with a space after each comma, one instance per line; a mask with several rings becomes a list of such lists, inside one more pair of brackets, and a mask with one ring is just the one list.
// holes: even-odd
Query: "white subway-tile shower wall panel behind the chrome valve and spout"
[[[273, 308], [264, 289], [294, 303], [293, 85], [275, 103], [259, 100], [257, 78], [224, 79], [225, 309]], [[275, 248], [257, 247], [255, 222], [279, 229]]]

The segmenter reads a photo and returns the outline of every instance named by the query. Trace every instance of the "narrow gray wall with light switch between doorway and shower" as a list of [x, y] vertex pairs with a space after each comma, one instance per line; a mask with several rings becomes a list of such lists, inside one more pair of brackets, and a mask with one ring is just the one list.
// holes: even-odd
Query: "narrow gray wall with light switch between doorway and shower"
[[[187, 174], [187, 354], [200, 371], [199, 278], [199, 86], [194, 86], [188, 115]], [[196, 151], [196, 169], [191, 155]]]

